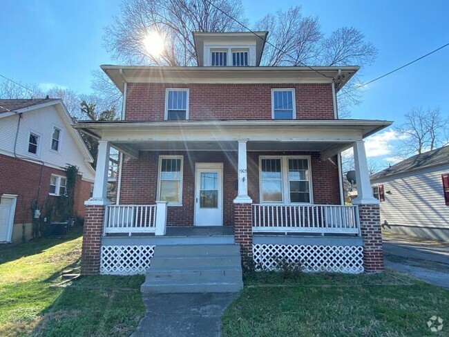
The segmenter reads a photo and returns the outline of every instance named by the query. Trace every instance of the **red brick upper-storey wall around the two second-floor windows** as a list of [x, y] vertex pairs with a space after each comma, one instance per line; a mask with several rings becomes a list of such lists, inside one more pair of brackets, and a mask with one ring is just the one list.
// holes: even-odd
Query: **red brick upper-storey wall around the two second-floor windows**
[[271, 89], [295, 88], [297, 119], [334, 119], [330, 84], [128, 83], [126, 119], [164, 120], [166, 88], [189, 88], [189, 119], [271, 119]]

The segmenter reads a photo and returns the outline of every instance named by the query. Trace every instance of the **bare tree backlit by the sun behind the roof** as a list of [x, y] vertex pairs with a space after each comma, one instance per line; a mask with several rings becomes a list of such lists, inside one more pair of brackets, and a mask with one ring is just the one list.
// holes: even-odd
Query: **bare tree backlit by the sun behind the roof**
[[[245, 21], [240, 0], [212, 0], [230, 17]], [[117, 61], [126, 64], [193, 66], [196, 64], [193, 31], [241, 30], [236, 21], [206, 0], [131, 0], [122, 2], [122, 15], [106, 27], [104, 46]], [[166, 37], [160, 57], [146, 52], [144, 39], [150, 31]]]

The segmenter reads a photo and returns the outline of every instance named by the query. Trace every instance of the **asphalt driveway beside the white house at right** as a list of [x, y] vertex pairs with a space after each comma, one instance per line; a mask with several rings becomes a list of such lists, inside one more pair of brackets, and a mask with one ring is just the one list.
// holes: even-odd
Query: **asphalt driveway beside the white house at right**
[[383, 233], [385, 267], [449, 289], [449, 242]]

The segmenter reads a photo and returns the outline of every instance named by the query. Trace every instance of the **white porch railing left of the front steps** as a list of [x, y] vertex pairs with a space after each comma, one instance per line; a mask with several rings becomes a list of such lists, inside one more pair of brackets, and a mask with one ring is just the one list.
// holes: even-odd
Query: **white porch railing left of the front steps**
[[108, 205], [104, 215], [104, 234], [155, 233], [165, 235], [166, 202], [155, 205]]

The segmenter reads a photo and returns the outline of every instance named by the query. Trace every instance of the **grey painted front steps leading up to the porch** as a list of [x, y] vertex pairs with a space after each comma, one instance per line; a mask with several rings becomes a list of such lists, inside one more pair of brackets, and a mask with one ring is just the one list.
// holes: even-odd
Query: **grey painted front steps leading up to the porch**
[[142, 293], [233, 292], [243, 287], [238, 244], [155, 248]]

